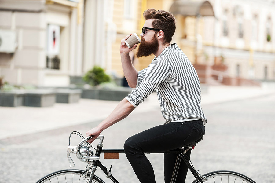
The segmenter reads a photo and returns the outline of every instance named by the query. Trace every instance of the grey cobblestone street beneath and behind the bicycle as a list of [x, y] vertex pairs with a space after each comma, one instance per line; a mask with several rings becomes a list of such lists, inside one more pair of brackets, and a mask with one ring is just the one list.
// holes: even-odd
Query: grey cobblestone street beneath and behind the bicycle
[[[196, 169], [205, 174], [214, 170], [233, 170], [252, 178], [257, 183], [275, 182], [275, 95], [218, 104], [203, 105], [207, 117], [206, 134], [193, 150], [191, 160]], [[69, 126], [57, 130], [29, 134], [0, 140], [0, 182], [33, 183], [42, 176], [56, 170], [68, 169], [66, 157], [68, 137], [71, 131], [83, 135], [100, 121]], [[103, 148], [123, 148], [124, 141], [140, 131], [163, 124], [160, 110], [133, 112], [126, 119], [111, 126], [105, 135]], [[72, 136], [71, 145], [81, 139]], [[156, 175], [156, 182], [163, 182], [163, 155], [148, 154]], [[76, 169], [85, 163], [72, 159]], [[130, 164], [124, 154], [120, 159], [101, 162], [120, 182], [137, 183]], [[97, 170], [104, 181], [111, 182]], [[192, 182], [189, 172], [186, 182]]]

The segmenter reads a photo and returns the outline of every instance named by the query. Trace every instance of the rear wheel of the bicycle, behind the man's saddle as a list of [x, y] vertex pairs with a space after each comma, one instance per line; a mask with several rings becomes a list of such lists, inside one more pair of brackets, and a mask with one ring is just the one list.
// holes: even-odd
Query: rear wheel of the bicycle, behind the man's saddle
[[[213, 171], [204, 174], [204, 176], [207, 178], [207, 181], [205, 181], [207, 183], [256, 183], [244, 174], [228, 170]], [[200, 180], [197, 178], [192, 183], [200, 183]]]

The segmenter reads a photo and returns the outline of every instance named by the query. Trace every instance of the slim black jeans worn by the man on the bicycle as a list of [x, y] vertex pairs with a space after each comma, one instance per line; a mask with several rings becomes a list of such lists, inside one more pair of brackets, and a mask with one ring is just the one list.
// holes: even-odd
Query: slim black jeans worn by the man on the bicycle
[[[205, 133], [202, 120], [170, 122], [153, 127], [127, 139], [125, 154], [141, 183], [155, 183], [155, 174], [144, 152], [174, 150], [195, 141]], [[190, 157], [191, 151], [186, 153]], [[176, 154], [164, 154], [164, 181], [170, 183], [176, 161]], [[184, 183], [188, 167], [182, 161], [176, 182]]]

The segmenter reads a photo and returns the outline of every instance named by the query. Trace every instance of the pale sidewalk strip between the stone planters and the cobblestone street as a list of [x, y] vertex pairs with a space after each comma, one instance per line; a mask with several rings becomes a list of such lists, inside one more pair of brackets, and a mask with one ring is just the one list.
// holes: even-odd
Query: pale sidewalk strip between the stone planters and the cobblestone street
[[[244, 86], [208, 86], [202, 94], [202, 106], [275, 94], [274, 88]], [[53, 130], [106, 118], [118, 101], [80, 99], [75, 104], [56, 103], [53, 107], [0, 107], [0, 139]], [[132, 113], [160, 109], [152, 93]]]

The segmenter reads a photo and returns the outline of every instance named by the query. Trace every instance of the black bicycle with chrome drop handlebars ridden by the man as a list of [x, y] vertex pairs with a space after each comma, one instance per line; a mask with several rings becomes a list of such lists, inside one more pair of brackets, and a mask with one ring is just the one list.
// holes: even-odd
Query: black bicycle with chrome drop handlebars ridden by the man
[[[70, 145], [70, 139], [72, 134], [77, 134], [80, 137], [83, 138], [83, 140], [77, 145], [77, 146], [71, 146]], [[97, 167], [99, 167], [114, 183], [119, 183], [116, 178], [111, 174], [112, 165], [110, 167], [110, 170], [108, 170], [100, 161], [99, 157], [101, 153], [104, 153], [104, 159], [119, 159], [120, 153], [125, 153], [124, 149], [103, 149], [103, 140], [104, 135], [100, 135], [97, 137], [99, 139], [99, 143], [97, 144], [97, 148], [94, 148], [91, 144], [89, 144], [87, 141], [91, 137], [84, 138], [79, 132], [72, 132], [69, 137], [69, 146], [67, 150], [67, 157], [68, 161], [70, 163], [73, 163], [73, 166], [75, 167], [75, 163], [71, 159], [71, 153], [76, 154], [77, 158], [80, 161], [86, 162], [86, 170], [78, 170], [78, 169], [66, 169], [66, 170], [59, 170], [56, 172], [53, 172], [51, 174], [48, 174], [44, 176], [43, 178], [39, 179], [36, 183], [53, 183], [54, 181], [57, 181], [58, 183], [64, 182], [74, 182], [74, 180], [78, 183], [85, 182], [85, 183], [105, 183], [101, 178], [95, 175], [95, 171]], [[176, 164], [174, 167], [173, 176], [171, 179], [171, 183], [174, 183], [178, 174], [179, 164], [181, 161], [184, 161], [184, 163], [188, 166], [189, 170], [192, 172], [193, 176], [195, 177], [195, 180], [192, 183], [256, 183], [251, 178], [240, 174], [238, 172], [234, 171], [227, 171], [227, 170], [218, 170], [209, 172], [207, 174], [201, 175], [200, 170], [196, 170], [193, 167], [192, 162], [190, 159], [185, 156], [185, 153], [189, 150], [194, 149], [196, 146], [196, 143], [193, 145], [189, 145], [186, 147], [179, 148], [177, 150], [172, 151], [164, 151], [164, 152], [150, 152], [150, 153], [177, 153], [178, 157], [176, 160]], [[94, 153], [93, 149], [96, 150]], [[82, 178], [82, 179], [81, 179]]]

